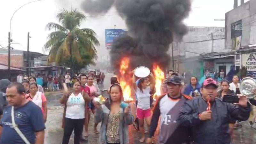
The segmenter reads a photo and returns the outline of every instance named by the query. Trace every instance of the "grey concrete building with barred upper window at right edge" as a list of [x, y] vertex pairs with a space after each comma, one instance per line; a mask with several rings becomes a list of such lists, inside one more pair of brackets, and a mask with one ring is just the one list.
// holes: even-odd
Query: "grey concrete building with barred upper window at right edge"
[[226, 13], [225, 47], [236, 50], [236, 70], [241, 66], [256, 78], [256, 1], [250, 0]]

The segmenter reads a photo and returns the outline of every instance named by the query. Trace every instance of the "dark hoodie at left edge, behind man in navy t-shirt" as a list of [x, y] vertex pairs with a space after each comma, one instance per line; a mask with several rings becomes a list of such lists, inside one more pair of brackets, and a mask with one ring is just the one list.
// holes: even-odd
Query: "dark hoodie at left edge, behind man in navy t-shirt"
[[0, 115], [3, 115], [4, 107], [8, 105], [5, 93], [9, 84], [11, 84], [11, 82], [8, 79], [0, 80]]

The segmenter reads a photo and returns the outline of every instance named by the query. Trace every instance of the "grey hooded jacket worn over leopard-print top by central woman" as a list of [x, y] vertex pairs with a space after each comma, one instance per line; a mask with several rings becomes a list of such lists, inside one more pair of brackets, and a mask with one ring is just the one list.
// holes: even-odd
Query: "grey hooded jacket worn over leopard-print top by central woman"
[[[111, 85], [111, 87], [112, 86], [113, 85]], [[109, 89], [111, 89], [111, 87]], [[111, 99], [109, 95], [108, 101], [104, 105], [101, 105], [101, 108], [97, 108], [95, 113], [95, 122], [96, 123], [101, 122], [100, 140], [103, 144], [107, 144], [106, 130], [107, 130], [107, 124], [108, 124], [108, 115], [110, 112], [110, 104], [111, 104]], [[129, 144], [128, 125], [131, 125], [133, 123], [133, 120], [134, 120], [134, 117], [131, 111], [128, 115], [124, 115], [124, 109], [120, 108], [120, 121], [119, 121], [120, 144]]]

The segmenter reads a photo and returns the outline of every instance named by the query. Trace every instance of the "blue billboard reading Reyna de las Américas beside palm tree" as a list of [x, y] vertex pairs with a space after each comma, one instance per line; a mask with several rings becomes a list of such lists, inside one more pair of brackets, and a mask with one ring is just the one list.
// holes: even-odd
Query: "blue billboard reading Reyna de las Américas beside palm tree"
[[110, 49], [113, 41], [121, 36], [124, 36], [126, 31], [124, 29], [105, 29], [106, 47]]

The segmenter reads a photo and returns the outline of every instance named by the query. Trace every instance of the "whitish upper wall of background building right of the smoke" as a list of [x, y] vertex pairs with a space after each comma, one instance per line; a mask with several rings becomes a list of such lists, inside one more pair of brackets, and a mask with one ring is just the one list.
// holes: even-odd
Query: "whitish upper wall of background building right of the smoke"
[[[173, 42], [173, 55], [186, 58], [199, 56], [211, 52], [227, 52], [225, 49], [224, 27], [188, 27], [188, 34], [181, 42]], [[171, 45], [168, 51], [170, 55]]]

